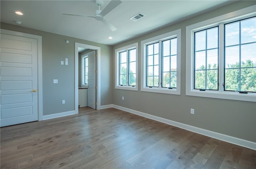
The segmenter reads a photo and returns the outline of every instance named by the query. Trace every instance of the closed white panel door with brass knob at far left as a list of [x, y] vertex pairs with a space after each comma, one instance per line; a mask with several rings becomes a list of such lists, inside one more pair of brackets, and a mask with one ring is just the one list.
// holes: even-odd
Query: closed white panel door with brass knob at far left
[[0, 126], [38, 120], [37, 40], [0, 37]]

